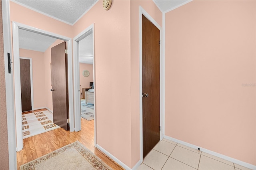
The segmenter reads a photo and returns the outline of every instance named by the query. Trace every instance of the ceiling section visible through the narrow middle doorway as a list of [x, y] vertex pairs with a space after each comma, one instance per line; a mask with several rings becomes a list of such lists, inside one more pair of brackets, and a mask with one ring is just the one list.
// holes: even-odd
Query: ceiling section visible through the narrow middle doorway
[[79, 41], [79, 62], [93, 64], [92, 33]]

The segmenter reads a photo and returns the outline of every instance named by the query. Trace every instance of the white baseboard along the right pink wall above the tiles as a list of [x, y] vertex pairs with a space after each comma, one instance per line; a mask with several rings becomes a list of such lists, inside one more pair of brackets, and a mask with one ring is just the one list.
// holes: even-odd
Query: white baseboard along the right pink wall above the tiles
[[235, 164], [244, 166], [244, 167], [246, 167], [246, 168], [250, 168], [250, 169], [252, 169], [252, 170], [256, 170], [256, 166], [255, 166], [255, 165], [252, 165], [252, 164], [243, 162], [243, 161], [241, 161], [241, 160], [237, 160], [237, 159], [235, 159], [235, 158], [231, 158], [231, 157], [229, 157], [229, 156], [226, 156], [226, 155], [223, 155], [223, 154], [219, 154], [219, 153], [217, 153], [217, 152], [214, 152], [214, 151], [211, 151], [211, 150], [202, 148], [202, 147], [200, 147], [200, 146], [196, 146], [196, 145], [194, 145], [194, 144], [190, 144], [190, 143], [184, 142], [184, 141], [182, 141], [182, 140], [178, 140], [178, 139], [176, 139], [176, 138], [172, 138], [172, 137], [170, 137], [170, 136], [164, 135], [164, 138], [166, 138], [166, 139], [168, 139], [168, 140], [172, 140], [172, 141], [177, 142], [177, 143], [179, 143], [179, 144], [183, 144], [183, 145], [188, 146], [188, 147], [190, 147], [190, 148], [194, 148], [194, 149], [200, 148], [200, 151], [202, 151], [202, 152], [211, 154], [211, 155], [213, 155], [213, 156], [222, 158], [222, 159], [224, 159], [224, 160], [228, 160], [228, 161], [230, 161], [230, 162], [233, 162], [233, 163], [235, 163]]

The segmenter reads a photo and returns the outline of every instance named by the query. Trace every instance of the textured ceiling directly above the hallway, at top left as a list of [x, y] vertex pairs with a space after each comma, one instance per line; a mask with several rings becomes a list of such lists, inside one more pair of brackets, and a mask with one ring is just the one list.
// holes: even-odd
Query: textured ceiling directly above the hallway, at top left
[[14, 2], [74, 25], [97, 0], [14, 0]]

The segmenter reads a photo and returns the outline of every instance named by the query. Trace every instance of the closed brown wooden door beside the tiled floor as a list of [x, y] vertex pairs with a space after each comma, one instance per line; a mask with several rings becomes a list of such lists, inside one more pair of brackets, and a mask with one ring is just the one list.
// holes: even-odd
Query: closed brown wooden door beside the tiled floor
[[143, 158], [160, 140], [160, 30], [142, 15]]

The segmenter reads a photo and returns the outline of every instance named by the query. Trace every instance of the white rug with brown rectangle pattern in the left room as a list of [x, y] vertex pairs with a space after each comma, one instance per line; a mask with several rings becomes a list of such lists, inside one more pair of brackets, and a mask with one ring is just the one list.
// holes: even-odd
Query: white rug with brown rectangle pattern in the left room
[[40, 133], [60, 128], [53, 123], [53, 115], [49, 111], [22, 115], [22, 135], [28, 138]]

